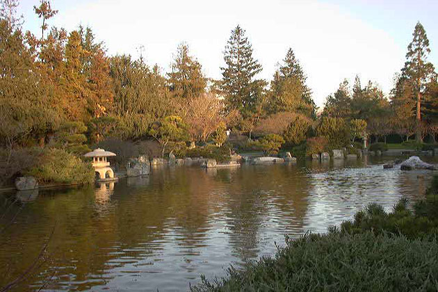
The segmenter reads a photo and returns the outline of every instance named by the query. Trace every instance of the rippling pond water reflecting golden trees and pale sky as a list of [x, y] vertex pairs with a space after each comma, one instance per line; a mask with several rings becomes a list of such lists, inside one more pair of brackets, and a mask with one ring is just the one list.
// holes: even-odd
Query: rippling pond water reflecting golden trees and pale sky
[[[275, 254], [284, 235], [326, 232], [377, 202], [423, 197], [431, 171], [383, 170], [389, 159], [156, 168], [143, 178], [0, 195], [0, 287], [47, 252], [14, 291], [187, 291]], [[52, 234], [53, 232], [53, 234]], [[52, 234], [52, 235], [51, 235]]]

